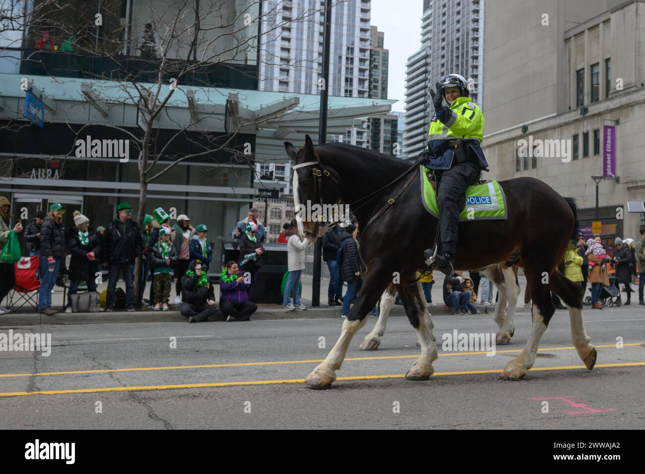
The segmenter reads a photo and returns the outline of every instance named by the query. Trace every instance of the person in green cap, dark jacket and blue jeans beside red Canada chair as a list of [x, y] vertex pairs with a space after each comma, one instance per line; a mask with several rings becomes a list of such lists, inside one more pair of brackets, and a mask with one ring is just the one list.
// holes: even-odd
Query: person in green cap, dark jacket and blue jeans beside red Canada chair
[[[38, 310], [46, 316], [57, 313], [52, 309], [52, 289], [61, 266], [61, 259], [65, 255], [65, 228], [63, 226], [63, 213], [65, 208], [59, 203], [52, 203], [49, 207], [47, 218], [41, 225], [40, 238], [40, 274], [41, 287], [38, 294]], [[64, 302], [63, 302], [64, 303]]]

